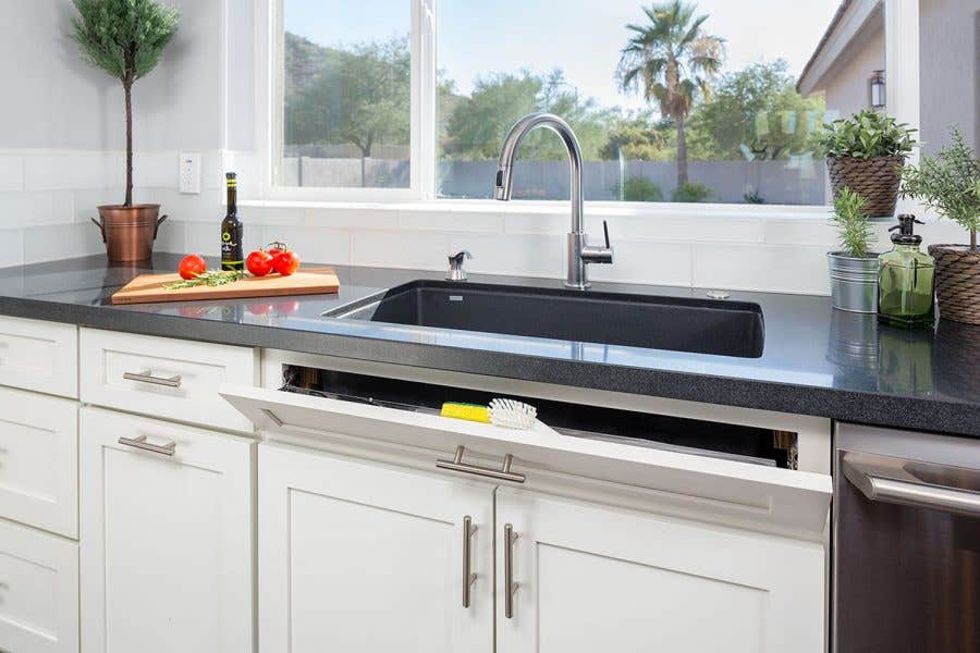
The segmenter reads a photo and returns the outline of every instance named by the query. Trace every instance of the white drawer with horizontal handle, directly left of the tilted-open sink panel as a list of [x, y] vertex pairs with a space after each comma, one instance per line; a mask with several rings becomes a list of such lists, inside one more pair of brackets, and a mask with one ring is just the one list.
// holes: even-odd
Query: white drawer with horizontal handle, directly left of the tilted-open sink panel
[[83, 402], [253, 432], [252, 422], [218, 395], [218, 386], [256, 385], [256, 350], [93, 329], [82, 330], [81, 343]]

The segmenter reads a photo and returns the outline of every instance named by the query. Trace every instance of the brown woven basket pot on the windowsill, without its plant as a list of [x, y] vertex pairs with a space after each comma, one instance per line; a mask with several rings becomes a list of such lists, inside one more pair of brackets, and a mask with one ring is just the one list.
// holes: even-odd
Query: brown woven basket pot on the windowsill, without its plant
[[898, 199], [898, 169], [903, 157], [855, 159], [833, 157], [826, 160], [834, 198], [847, 186], [865, 198], [865, 210], [871, 218], [891, 218]]

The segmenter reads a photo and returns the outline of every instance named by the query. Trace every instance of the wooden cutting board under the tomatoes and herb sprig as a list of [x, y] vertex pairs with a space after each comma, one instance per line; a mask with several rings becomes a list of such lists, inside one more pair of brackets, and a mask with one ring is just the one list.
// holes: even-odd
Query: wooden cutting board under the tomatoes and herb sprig
[[112, 295], [112, 304], [155, 304], [158, 301], [194, 301], [198, 299], [242, 299], [245, 297], [282, 297], [284, 295], [321, 295], [340, 288], [333, 268], [302, 268], [290, 276], [246, 276], [221, 286], [195, 286], [168, 289], [167, 284], [181, 281], [180, 274], [140, 274]]

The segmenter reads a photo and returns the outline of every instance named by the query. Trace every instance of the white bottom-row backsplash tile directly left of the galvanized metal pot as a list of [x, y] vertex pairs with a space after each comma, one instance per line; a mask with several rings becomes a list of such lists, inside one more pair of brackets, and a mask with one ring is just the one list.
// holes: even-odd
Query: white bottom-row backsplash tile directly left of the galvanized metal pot
[[830, 294], [825, 247], [694, 245], [695, 287]]

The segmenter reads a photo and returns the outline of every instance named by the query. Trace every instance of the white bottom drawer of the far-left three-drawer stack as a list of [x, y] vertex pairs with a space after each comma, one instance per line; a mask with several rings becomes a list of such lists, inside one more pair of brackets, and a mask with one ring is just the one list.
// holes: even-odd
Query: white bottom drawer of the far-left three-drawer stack
[[0, 520], [0, 651], [77, 653], [77, 544]]

